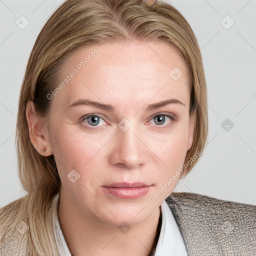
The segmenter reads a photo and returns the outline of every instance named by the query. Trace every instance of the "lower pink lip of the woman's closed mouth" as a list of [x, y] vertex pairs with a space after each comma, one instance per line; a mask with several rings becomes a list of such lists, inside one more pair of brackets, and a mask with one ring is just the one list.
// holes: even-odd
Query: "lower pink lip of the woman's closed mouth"
[[103, 186], [103, 189], [119, 198], [134, 199], [145, 195], [151, 186], [140, 187], [107, 187]]

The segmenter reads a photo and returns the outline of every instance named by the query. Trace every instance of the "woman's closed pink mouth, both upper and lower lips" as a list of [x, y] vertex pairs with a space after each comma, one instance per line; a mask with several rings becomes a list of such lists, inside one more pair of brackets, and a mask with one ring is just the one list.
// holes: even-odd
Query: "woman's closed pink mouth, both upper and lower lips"
[[124, 199], [135, 199], [147, 194], [152, 186], [142, 182], [118, 182], [102, 188], [108, 195]]

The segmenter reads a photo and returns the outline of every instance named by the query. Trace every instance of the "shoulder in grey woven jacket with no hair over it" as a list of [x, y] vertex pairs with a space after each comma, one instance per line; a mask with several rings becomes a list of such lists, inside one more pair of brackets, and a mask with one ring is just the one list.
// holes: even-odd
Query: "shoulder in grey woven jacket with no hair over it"
[[186, 192], [173, 192], [166, 202], [187, 248], [194, 251], [191, 255], [197, 255], [196, 251], [200, 255], [215, 255], [212, 252], [254, 255], [256, 252], [255, 205]]

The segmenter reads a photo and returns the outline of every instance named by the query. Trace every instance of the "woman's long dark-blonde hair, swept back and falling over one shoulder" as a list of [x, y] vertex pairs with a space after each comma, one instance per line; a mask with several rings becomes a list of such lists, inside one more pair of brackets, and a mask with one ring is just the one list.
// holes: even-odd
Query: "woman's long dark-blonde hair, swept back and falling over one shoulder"
[[[168, 42], [182, 55], [190, 78], [189, 112], [196, 114], [193, 143], [185, 162], [196, 152], [202, 152], [208, 130], [204, 71], [197, 40], [180, 12], [161, 1], [154, 8], [146, 7], [141, 0], [65, 1], [39, 33], [20, 91], [16, 147], [19, 178], [28, 194], [1, 210], [2, 239], [20, 235], [15, 229], [20, 221], [29, 226], [20, 245], [25, 255], [59, 255], [51, 203], [60, 188], [53, 155], [40, 155], [29, 140], [26, 104], [31, 100], [38, 113], [48, 113], [51, 101], [46, 95], [56, 88], [60, 64], [75, 50], [86, 45], [100, 45], [106, 40], [132, 39]], [[184, 169], [183, 176], [198, 158]]]

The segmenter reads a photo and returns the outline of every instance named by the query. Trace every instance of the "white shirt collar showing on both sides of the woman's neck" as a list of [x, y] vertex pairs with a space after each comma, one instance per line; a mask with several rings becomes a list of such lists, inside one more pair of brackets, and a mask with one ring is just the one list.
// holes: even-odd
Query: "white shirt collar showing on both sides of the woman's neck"
[[[59, 220], [57, 217], [57, 203], [59, 193], [53, 199], [55, 210], [53, 211], [53, 227], [55, 239], [61, 256], [71, 256], [71, 253], [66, 245]], [[172, 212], [166, 201], [161, 204], [162, 223], [159, 238], [157, 241], [154, 256], [187, 256], [185, 244], [180, 234], [177, 223], [172, 215]]]

